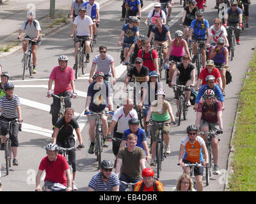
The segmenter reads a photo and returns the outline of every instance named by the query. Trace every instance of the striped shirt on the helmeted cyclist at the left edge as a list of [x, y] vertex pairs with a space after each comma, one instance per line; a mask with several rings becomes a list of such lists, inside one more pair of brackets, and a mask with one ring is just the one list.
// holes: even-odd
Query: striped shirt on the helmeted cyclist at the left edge
[[12, 99], [3, 96], [0, 98], [0, 108], [2, 108], [2, 116], [7, 119], [14, 119], [18, 117], [17, 106], [20, 106], [20, 99], [17, 95], [12, 96]]

